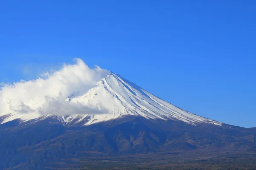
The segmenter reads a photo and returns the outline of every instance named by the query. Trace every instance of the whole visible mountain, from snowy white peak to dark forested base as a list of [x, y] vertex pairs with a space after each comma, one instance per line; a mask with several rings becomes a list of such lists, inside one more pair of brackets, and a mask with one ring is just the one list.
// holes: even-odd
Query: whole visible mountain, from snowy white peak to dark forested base
[[256, 169], [255, 128], [177, 108], [118, 74], [63, 100], [101, 112], [0, 116], [0, 169]]

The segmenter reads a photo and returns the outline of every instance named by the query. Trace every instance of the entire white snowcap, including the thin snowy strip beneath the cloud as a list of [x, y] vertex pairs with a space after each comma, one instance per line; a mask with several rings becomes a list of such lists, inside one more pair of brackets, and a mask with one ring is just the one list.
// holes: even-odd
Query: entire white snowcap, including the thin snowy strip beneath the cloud
[[84, 105], [102, 109], [102, 113], [71, 113], [68, 116], [58, 116], [61, 113], [48, 113], [47, 116], [36, 114], [9, 113], [1, 116], [2, 123], [13, 119], [21, 119], [28, 121], [35, 119], [36, 121], [45, 119], [49, 116], [57, 115], [58, 120], [64, 123], [90, 125], [97, 122], [108, 121], [120, 118], [124, 115], [143, 116], [146, 119], [164, 119], [186, 122], [196, 125], [197, 123], [207, 123], [220, 125], [183, 109], [177, 108], [164, 100], [150, 94], [134, 83], [121, 77], [118, 74], [109, 72], [109, 74], [90, 88], [85, 94], [81, 92], [73, 93], [65, 99], [73, 105]]

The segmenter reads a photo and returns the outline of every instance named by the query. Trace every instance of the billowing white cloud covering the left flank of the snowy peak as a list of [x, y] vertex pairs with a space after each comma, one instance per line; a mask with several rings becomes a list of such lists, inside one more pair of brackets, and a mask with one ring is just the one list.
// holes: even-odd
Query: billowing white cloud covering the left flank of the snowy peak
[[86, 93], [109, 71], [96, 66], [89, 68], [81, 59], [74, 65], [63, 65], [58, 71], [45, 73], [37, 79], [3, 84], [0, 89], [0, 116], [23, 114], [100, 114], [105, 108], [66, 102], [74, 92]]

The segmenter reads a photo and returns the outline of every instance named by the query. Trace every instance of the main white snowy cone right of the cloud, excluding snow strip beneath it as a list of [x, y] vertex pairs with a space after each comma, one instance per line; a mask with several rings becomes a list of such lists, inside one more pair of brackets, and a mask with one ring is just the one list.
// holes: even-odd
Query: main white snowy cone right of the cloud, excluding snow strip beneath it
[[108, 110], [106, 114], [91, 116], [86, 125], [115, 119], [122, 115], [143, 116], [147, 119], [174, 119], [189, 124], [205, 122], [221, 125], [220, 122], [177, 108], [112, 72], [86, 94], [69, 98], [69, 100], [84, 105], [102, 106]]

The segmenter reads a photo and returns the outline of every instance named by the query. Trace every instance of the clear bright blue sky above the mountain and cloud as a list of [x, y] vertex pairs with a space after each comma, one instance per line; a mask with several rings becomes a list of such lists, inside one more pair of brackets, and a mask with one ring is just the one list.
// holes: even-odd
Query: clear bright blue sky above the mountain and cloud
[[0, 82], [75, 57], [200, 116], [256, 127], [255, 0], [0, 2]]

